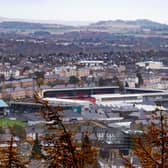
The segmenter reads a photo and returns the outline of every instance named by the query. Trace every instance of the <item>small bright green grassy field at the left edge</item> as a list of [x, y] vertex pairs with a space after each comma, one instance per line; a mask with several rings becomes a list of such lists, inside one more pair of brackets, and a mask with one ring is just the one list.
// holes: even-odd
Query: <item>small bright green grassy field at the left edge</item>
[[25, 127], [26, 123], [18, 120], [0, 119], [0, 127], [4, 126], [12, 127], [14, 125]]

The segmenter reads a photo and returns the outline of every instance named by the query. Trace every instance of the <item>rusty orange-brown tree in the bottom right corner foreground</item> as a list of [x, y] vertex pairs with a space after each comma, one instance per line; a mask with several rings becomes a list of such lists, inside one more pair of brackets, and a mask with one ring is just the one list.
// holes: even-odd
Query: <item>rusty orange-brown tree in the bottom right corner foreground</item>
[[[157, 109], [142, 135], [133, 137], [133, 154], [143, 168], [168, 167], [168, 127], [166, 113]], [[129, 158], [123, 157], [126, 167], [134, 168]]]

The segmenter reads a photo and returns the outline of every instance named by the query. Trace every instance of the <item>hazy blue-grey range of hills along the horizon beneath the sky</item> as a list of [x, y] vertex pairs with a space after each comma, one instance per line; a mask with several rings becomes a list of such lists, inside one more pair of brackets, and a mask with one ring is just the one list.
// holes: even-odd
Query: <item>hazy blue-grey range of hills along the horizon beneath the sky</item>
[[[47, 21], [46, 21], [47, 22]], [[109, 20], [99, 21], [84, 26], [69, 26], [57, 23], [44, 23], [43, 21], [24, 21], [23, 19], [9, 19], [0, 17], [0, 32], [17, 32], [17, 33], [64, 33], [64, 32], [107, 32], [107, 33], [143, 33], [152, 31], [168, 32], [168, 25], [161, 24], [146, 19], [135, 21]]]

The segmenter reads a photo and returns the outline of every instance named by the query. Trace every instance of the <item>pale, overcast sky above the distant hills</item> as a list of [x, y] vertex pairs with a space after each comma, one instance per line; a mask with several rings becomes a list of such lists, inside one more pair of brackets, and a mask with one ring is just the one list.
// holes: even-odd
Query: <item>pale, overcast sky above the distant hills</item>
[[0, 0], [0, 17], [91, 22], [150, 19], [168, 24], [168, 0]]

